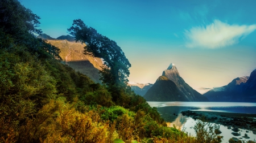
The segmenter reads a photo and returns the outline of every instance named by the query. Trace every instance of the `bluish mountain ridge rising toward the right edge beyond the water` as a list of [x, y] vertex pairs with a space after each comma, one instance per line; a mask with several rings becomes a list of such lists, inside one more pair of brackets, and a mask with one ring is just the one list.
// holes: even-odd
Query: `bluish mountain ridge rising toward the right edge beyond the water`
[[212, 102], [256, 102], [256, 70], [204, 94]]

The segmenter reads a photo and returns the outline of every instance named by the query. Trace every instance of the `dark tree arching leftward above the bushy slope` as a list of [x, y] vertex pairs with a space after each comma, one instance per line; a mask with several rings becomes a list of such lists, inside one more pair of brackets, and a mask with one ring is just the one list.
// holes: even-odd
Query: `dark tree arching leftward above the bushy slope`
[[81, 19], [73, 20], [68, 32], [76, 37], [76, 41], [86, 44], [84, 54], [104, 59], [100, 71], [103, 83], [114, 86], [128, 81], [131, 64], [115, 41], [88, 27]]

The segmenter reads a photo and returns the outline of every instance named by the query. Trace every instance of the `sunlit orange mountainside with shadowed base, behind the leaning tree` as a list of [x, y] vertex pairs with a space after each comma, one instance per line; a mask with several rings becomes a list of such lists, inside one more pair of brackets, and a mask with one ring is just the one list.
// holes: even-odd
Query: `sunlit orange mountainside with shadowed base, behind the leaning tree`
[[70, 42], [68, 40], [47, 40], [51, 45], [59, 47], [61, 63], [72, 67], [74, 70], [90, 77], [95, 83], [101, 83], [98, 73], [103, 66], [100, 58], [91, 57], [84, 54], [85, 44]]

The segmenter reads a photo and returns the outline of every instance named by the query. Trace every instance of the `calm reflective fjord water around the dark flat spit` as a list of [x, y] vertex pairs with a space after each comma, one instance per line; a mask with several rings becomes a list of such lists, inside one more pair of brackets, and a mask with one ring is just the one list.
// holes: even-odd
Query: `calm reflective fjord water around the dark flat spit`
[[[245, 114], [256, 114], [256, 103], [245, 103], [245, 102], [148, 102], [151, 107], [157, 107], [158, 112], [166, 120], [168, 126], [177, 128], [185, 128], [185, 131], [195, 136], [195, 131], [192, 127], [195, 126], [196, 120], [191, 117], [183, 116], [180, 112], [193, 110], [193, 111], [213, 111], [213, 112], [234, 112], [234, 113], [245, 113]], [[175, 115], [174, 115], [175, 114]], [[246, 130], [241, 129], [241, 136], [245, 135]], [[220, 125], [220, 135], [224, 136], [222, 142], [228, 142], [229, 138], [236, 137], [231, 133], [231, 129], [228, 129], [224, 125]], [[256, 135], [251, 131], [247, 133], [249, 139], [241, 140], [256, 140]]]

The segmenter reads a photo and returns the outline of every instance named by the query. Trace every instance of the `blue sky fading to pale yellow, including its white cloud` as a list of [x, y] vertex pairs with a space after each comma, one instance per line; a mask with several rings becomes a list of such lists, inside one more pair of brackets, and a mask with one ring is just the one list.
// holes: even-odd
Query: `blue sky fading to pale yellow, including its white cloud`
[[200, 93], [250, 76], [256, 68], [256, 1], [20, 0], [40, 29], [67, 35], [81, 19], [117, 42], [131, 63], [129, 80], [152, 83], [174, 63]]

